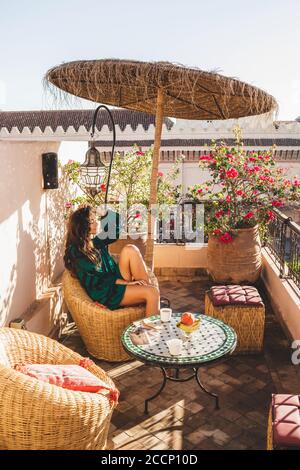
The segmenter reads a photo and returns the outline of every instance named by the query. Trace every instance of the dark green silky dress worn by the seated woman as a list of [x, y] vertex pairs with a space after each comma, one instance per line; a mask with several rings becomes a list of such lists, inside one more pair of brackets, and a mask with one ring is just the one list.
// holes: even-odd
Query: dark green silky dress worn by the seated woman
[[94, 247], [101, 255], [99, 267], [75, 245], [69, 246], [69, 256], [75, 260], [77, 277], [89, 297], [115, 310], [120, 307], [126, 289], [126, 285], [116, 284], [116, 280], [122, 279], [122, 275], [118, 264], [108, 253], [108, 245], [119, 238], [119, 214], [108, 210], [101, 220], [101, 227], [102, 232], [92, 239]]

